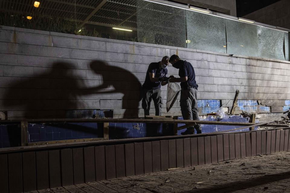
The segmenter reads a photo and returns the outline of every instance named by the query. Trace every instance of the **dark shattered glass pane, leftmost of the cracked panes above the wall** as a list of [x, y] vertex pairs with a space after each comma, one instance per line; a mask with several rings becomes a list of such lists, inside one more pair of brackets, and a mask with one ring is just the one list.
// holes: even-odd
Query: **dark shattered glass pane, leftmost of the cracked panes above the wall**
[[186, 47], [185, 10], [137, 0], [138, 42]]

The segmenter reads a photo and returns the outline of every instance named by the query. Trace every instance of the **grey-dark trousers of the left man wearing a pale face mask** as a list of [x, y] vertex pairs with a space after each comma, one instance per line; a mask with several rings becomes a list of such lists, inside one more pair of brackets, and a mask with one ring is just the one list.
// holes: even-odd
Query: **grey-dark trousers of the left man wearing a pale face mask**
[[155, 115], [161, 116], [162, 109], [162, 98], [161, 98], [161, 89], [147, 90], [143, 88], [143, 99], [142, 99], [142, 108], [144, 109], [144, 115], [149, 115], [151, 100], [154, 101], [155, 106]]

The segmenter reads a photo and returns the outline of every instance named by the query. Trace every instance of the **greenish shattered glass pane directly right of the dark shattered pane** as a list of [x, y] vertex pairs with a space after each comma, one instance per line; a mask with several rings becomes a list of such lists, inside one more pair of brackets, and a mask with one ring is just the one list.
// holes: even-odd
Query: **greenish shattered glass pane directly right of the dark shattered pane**
[[224, 18], [186, 10], [187, 47], [226, 53]]

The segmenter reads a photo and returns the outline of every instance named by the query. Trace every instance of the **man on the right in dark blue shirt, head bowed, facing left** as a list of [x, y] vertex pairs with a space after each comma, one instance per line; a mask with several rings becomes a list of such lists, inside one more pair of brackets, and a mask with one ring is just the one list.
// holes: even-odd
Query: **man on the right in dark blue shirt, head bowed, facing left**
[[[197, 106], [197, 87], [195, 81], [195, 72], [192, 65], [185, 60], [181, 60], [178, 55], [172, 55], [169, 62], [174, 68], [179, 69], [179, 77], [174, 78], [170, 76], [169, 82], [180, 82], [181, 94], [180, 94], [180, 108], [182, 117], [184, 120], [199, 120], [198, 106]], [[197, 134], [201, 133], [200, 125], [187, 128], [182, 135], [194, 134], [194, 128]]]

